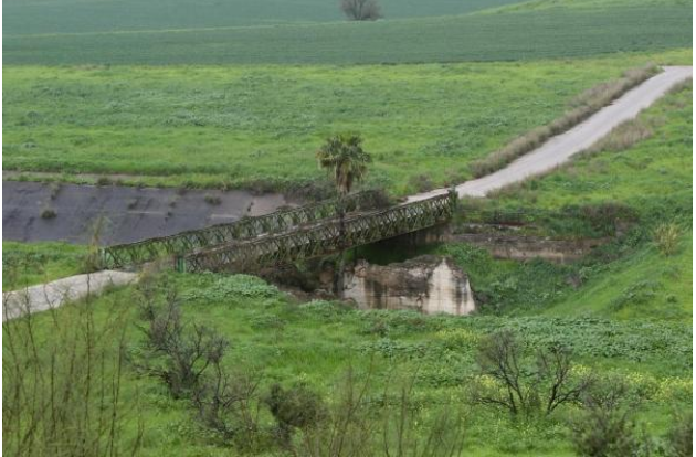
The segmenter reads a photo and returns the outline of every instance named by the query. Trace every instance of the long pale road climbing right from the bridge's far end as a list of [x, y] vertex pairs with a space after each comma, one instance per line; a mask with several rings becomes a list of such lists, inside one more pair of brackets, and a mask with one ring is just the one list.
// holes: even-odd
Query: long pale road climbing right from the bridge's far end
[[[456, 191], [460, 198], [486, 196], [492, 191], [552, 170], [570, 160], [572, 156], [594, 145], [620, 124], [637, 116], [639, 113], [660, 99], [673, 86], [690, 78], [693, 73], [694, 68], [692, 66], [664, 67], [664, 72], [629, 91], [613, 104], [600, 109], [570, 130], [552, 137], [539, 148], [520, 157], [506, 168], [457, 185]], [[446, 190], [436, 189], [431, 192], [411, 195], [408, 201], [419, 201], [443, 192], [446, 192]]]

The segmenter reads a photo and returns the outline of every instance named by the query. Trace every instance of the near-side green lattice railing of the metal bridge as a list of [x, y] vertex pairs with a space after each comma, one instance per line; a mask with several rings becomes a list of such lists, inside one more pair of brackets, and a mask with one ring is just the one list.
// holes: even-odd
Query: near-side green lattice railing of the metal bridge
[[331, 220], [289, 233], [194, 252], [178, 257], [176, 265], [180, 272], [243, 272], [327, 255], [449, 222], [456, 200], [456, 194], [450, 192], [383, 211], [352, 215], [345, 220], [344, 237], [339, 222]]

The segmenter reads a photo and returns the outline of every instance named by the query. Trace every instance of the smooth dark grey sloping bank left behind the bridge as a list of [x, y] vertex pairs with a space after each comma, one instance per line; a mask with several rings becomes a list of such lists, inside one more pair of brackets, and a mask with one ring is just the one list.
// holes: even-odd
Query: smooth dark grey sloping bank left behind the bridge
[[260, 215], [291, 204], [281, 194], [2, 182], [2, 238], [88, 243], [104, 216], [101, 244], [129, 243]]

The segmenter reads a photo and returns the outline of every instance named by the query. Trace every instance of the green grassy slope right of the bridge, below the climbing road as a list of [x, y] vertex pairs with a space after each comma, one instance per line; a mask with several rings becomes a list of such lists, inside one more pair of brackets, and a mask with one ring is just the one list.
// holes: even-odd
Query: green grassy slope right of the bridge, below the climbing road
[[[692, 252], [692, 89], [668, 95], [644, 111], [634, 125], [648, 126], [653, 135], [624, 150], [602, 150], [576, 159], [544, 178], [502, 192], [498, 208], [560, 210], [567, 205], [616, 202], [640, 214], [637, 243], [610, 247], [618, 259], [552, 267], [545, 263], [519, 265], [492, 261], [467, 249], [447, 247], [474, 277], [502, 297], [510, 295], [527, 311], [552, 304], [552, 316], [600, 315], [618, 318], [685, 319], [693, 301]], [[665, 257], [651, 241], [654, 227], [674, 221], [681, 226], [679, 247]], [[631, 237], [636, 237], [637, 234]], [[618, 249], [618, 251], [616, 251]], [[479, 263], [476, 264], [476, 262]], [[577, 290], [566, 278], [586, 277]], [[534, 277], [542, 278], [540, 284]], [[529, 287], [525, 287], [530, 281]], [[483, 287], [483, 285], [479, 285]], [[519, 290], [524, 290], [519, 291]], [[514, 310], [515, 304], [508, 309]], [[538, 308], [537, 308], [538, 309]]]

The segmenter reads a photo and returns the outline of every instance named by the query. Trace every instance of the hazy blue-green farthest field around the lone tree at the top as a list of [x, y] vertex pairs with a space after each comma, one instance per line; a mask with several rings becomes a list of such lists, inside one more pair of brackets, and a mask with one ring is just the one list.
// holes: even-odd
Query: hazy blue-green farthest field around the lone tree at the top
[[[465, 14], [521, 0], [381, 0], [387, 19]], [[6, 35], [205, 29], [337, 22], [336, 1], [325, 0], [9, 0]]]

